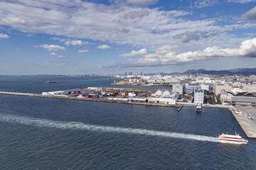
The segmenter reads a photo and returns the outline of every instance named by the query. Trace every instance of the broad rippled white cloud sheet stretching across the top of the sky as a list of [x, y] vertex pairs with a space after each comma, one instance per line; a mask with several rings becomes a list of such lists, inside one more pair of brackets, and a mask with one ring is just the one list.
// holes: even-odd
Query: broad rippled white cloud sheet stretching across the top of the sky
[[[233, 24], [232, 21], [221, 22], [218, 18], [191, 18], [193, 9], [188, 10], [188, 8], [183, 8], [186, 11], [165, 11], [165, 8], [154, 8], [153, 6], [149, 8], [125, 3], [105, 6], [99, 4], [100, 1], [97, 1], [98, 4], [93, 2], [95, 1], [0, 1], [0, 26], [26, 34], [52, 35], [55, 40], [66, 42], [68, 45], [83, 44], [82, 41], [72, 42], [73, 39], [78, 41], [88, 39], [102, 41], [102, 43], [110, 42], [108, 45], [132, 45], [146, 47], [150, 50], [156, 50], [157, 47], [164, 45], [177, 45], [177, 52], [184, 52], [184, 49], [202, 50], [211, 45], [228, 47], [238, 39], [241, 40], [242, 36], [236, 38], [235, 30], [240, 30], [241, 33], [242, 29], [253, 30], [256, 28], [256, 23]], [[138, 3], [142, 2], [151, 4], [154, 1]], [[202, 6], [200, 3], [202, 1], [198, 1], [198, 6]], [[191, 5], [194, 5], [193, 1], [191, 1]], [[8, 17], [20, 18], [25, 23], [1, 20], [1, 18]], [[234, 34], [230, 35], [228, 31], [233, 31]], [[218, 33], [220, 36], [207, 39], [200, 37], [199, 40], [196, 40], [186, 33], [191, 35]], [[183, 41], [187, 41], [187, 43], [177, 41], [176, 35], [185, 35]]]

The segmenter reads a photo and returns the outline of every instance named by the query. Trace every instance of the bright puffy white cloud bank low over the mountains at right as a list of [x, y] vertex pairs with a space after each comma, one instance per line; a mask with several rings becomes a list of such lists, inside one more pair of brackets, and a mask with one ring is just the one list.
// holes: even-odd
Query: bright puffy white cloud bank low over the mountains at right
[[138, 60], [129, 59], [127, 62], [105, 67], [152, 67], [222, 57], [256, 57], [256, 38], [243, 41], [239, 48], [206, 47], [205, 50], [181, 54], [176, 54], [173, 46], [164, 46], [157, 49], [155, 53], [144, 55]]

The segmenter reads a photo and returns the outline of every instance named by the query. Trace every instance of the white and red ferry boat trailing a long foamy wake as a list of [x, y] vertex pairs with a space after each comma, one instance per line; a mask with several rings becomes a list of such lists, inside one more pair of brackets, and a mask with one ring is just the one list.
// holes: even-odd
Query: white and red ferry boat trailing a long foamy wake
[[219, 140], [223, 143], [234, 143], [234, 144], [247, 144], [248, 140], [240, 137], [239, 134], [235, 132], [235, 135], [222, 134], [219, 136]]

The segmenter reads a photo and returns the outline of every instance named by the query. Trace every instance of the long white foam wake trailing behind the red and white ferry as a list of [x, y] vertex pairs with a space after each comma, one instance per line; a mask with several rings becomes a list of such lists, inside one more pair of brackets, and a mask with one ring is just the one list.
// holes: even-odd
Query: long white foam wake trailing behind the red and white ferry
[[162, 132], [156, 130], [134, 129], [134, 128], [120, 128], [112, 126], [90, 125], [80, 122], [63, 122], [54, 121], [41, 118], [31, 118], [19, 115], [0, 114], [0, 121], [9, 123], [18, 123], [23, 125], [35, 125], [47, 128], [60, 128], [60, 129], [72, 129], [72, 130], [92, 130], [102, 132], [120, 132], [137, 135], [151, 135], [161, 137], [172, 137], [186, 140], [201, 140], [208, 142], [220, 142], [218, 137], [208, 137], [202, 135], [183, 134], [177, 132]]

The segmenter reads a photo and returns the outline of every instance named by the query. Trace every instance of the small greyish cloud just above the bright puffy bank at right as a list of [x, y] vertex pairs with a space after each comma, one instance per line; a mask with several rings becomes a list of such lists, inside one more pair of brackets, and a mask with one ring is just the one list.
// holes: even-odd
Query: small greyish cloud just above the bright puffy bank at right
[[218, 33], [209, 33], [201, 35], [200, 33], [182, 33], [175, 36], [176, 39], [181, 40], [181, 42], [190, 42], [191, 40], [201, 40], [210, 38], [212, 36], [218, 35]]

